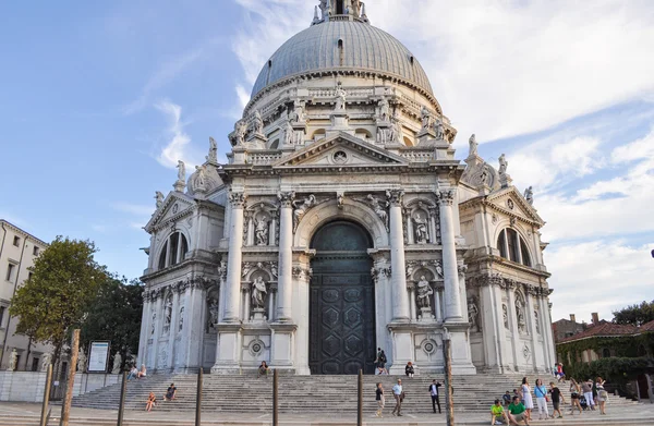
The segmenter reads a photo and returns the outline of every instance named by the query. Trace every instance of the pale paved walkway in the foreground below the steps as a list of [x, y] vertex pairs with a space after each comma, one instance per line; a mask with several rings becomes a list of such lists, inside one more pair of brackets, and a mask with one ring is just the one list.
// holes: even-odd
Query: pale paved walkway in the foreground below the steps
[[[374, 413], [364, 413], [365, 425], [445, 425], [445, 414], [434, 415], [412, 415], [405, 413], [402, 417], [395, 417], [390, 415], [391, 409], [386, 409], [386, 415], [384, 418], [376, 418]], [[569, 410], [569, 409], [568, 409]], [[602, 416], [600, 412], [584, 412], [574, 416], [568, 414], [568, 410], [564, 412], [566, 417], [564, 419], [556, 421], [534, 421], [534, 425], [654, 425], [654, 405], [653, 404], [639, 404], [632, 405], [631, 407], [616, 407], [610, 410], [607, 407], [607, 415]], [[61, 406], [52, 406], [50, 425], [59, 424], [59, 414]], [[311, 414], [280, 414], [280, 426], [300, 426], [300, 425], [355, 425], [356, 415], [342, 416], [337, 413], [338, 407], [335, 407], [335, 414], [330, 415], [329, 418], [324, 416], [316, 416]], [[40, 416], [40, 405], [29, 403], [0, 403], [0, 425], [29, 425], [35, 424]], [[92, 410], [92, 409], [75, 409], [73, 407], [71, 414], [71, 425], [116, 425], [116, 418], [118, 416], [117, 411], [109, 410]], [[533, 417], [537, 418], [537, 413], [532, 414]], [[141, 425], [194, 425], [194, 414], [187, 412], [159, 412], [156, 409], [147, 413], [145, 411], [129, 411], [125, 412], [125, 426], [141, 426]], [[55, 422], [56, 421], [56, 422]], [[488, 425], [491, 422], [489, 417], [485, 413], [456, 413], [457, 425]], [[13, 423], [12, 423], [13, 422]], [[38, 424], [38, 423], [36, 423]], [[207, 426], [264, 426], [271, 424], [270, 414], [252, 414], [247, 413], [204, 413], [203, 425]]]

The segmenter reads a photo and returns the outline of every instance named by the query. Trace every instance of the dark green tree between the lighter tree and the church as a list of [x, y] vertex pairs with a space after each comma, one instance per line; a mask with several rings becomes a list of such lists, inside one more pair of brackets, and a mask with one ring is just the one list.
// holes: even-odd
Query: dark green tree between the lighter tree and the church
[[[81, 341], [88, 348], [92, 341], [111, 342], [111, 360], [121, 354], [124, 367], [128, 356], [138, 351], [143, 287], [138, 280], [107, 277], [88, 307], [82, 325]], [[113, 364], [109, 363], [109, 368]]]

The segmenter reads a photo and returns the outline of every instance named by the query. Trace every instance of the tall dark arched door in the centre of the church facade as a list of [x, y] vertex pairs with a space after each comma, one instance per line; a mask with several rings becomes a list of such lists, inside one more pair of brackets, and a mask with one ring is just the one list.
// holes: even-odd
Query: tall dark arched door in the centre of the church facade
[[374, 370], [375, 287], [371, 277], [370, 234], [360, 226], [335, 221], [323, 226], [311, 247], [310, 296], [312, 374]]

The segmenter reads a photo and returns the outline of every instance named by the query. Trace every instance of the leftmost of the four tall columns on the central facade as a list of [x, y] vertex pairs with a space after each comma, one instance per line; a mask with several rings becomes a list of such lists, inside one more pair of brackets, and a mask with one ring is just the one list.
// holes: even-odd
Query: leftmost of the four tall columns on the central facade
[[238, 322], [240, 319], [241, 263], [243, 260], [243, 207], [245, 206], [246, 196], [243, 193], [230, 193], [229, 200], [232, 206], [232, 214], [223, 320], [225, 322]]

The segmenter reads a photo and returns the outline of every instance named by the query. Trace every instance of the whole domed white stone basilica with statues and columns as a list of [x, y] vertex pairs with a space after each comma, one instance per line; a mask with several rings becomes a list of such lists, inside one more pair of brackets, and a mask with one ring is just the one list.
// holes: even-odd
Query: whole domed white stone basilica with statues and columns
[[[138, 357], [154, 373], [544, 373], [549, 273], [531, 188], [457, 130], [358, 0], [323, 0], [263, 64], [227, 163], [157, 192]], [[186, 179], [187, 178], [187, 179]]]

